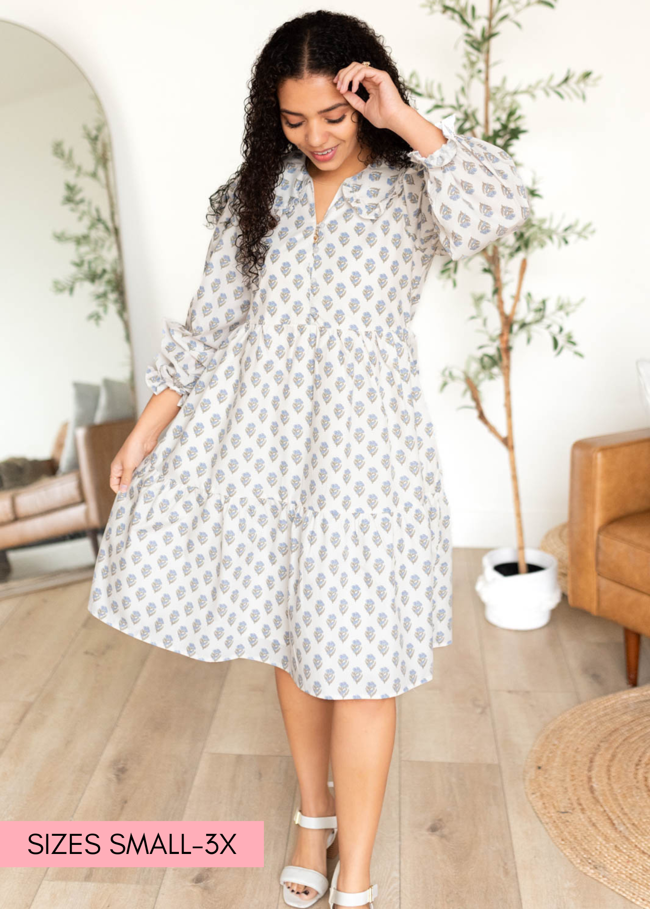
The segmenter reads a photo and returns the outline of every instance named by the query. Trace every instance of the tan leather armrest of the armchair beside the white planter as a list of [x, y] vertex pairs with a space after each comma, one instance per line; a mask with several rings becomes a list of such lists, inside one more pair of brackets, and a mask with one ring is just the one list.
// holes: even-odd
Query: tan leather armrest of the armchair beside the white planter
[[569, 604], [597, 613], [596, 540], [604, 524], [650, 508], [650, 427], [579, 439], [569, 481]]

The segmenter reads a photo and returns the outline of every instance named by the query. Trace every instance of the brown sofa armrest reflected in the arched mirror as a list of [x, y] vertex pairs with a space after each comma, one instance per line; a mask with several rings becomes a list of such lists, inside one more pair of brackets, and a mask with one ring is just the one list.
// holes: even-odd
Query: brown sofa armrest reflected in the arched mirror
[[99, 529], [107, 524], [116, 497], [108, 483], [110, 465], [135, 425], [136, 421], [129, 418], [76, 427], [76, 453], [88, 509], [88, 527]]

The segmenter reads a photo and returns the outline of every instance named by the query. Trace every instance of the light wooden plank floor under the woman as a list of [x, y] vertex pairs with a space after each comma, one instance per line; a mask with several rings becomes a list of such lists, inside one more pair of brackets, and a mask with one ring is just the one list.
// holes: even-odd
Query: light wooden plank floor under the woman
[[[473, 588], [484, 552], [454, 550], [453, 644], [432, 683], [397, 699], [375, 907], [631, 906], [564, 858], [522, 780], [545, 724], [625, 688], [623, 631], [565, 598], [544, 628], [495, 628]], [[273, 669], [133, 640], [87, 613], [89, 586], [0, 601], [0, 819], [263, 819], [265, 867], [0, 869], [0, 905], [282, 909], [300, 794]]]

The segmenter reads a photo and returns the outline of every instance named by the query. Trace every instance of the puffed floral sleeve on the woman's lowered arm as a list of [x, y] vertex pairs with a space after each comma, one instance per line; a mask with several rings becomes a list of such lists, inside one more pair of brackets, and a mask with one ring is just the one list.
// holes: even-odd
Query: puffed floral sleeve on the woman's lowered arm
[[160, 353], [147, 366], [145, 381], [155, 395], [173, 388], [183, 405], [197, 384], [203, 387], [202, 374], [214, 369], [218, 353], [229, 345], [229, 336], [245, 322], [250, 292], [245, 290], [235, 244], [239, 226], [231, 206], [229, 190], [218, 214], [208, 245], [200, 285], [189, 304], [185, 325], [174, 319], [163, 320]]

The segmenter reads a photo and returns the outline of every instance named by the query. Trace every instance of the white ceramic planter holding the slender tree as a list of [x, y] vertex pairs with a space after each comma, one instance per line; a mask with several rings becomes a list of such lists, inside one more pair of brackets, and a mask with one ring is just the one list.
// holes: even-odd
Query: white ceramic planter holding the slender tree
[[483, 571], [475, 589], [485, 604], [485, 618], [499, 628], [541, 628], [562, 599], [555, 556], [542, 549], [526, 548], [523, 553], [528, 564], [542, 565], [541, 570], [510, 576], [496, 571], [494, 565], [517, 561], [517, 550], [510, 546], [491, 549], [482, 557]]

